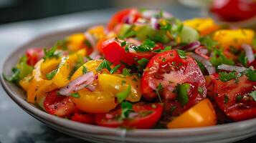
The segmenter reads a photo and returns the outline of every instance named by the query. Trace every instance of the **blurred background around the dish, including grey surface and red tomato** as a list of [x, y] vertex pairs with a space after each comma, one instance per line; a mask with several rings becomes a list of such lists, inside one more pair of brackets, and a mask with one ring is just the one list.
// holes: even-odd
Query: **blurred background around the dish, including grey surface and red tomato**
[[[214, 16], [240, 26], [256, 25], [255, 0], [0, 0], [0, 61], [40, 34], [105, 22], [128, 7], [163, 9], [180, 19]], [[4, 142], [82, 141], [49, 129], [22, 111], [0, 87], [0, 143]]]

